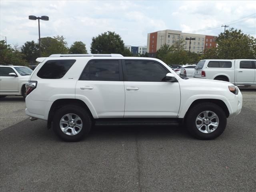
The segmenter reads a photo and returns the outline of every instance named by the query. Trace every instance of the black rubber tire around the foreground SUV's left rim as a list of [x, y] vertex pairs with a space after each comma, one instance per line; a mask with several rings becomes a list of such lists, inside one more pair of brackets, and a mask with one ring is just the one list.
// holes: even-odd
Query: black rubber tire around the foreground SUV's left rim
[[[82, 129], [75, 135], [68, 135], [62, 132], [60, 128], [60, 120], [66, 114], [76, 114], [80, 117], [82, 121]], [[63, 106], [62, 108], [58, 109], [53, 117], [52, 120], [53, 130], [55, 134], [62, 140], [66, 142], [76, 142], [80, 141], [84, 138], [92, 128], [92, 119], [90, 114], [84, 108], [77, 106], [77, 105], [67, 105]], [[71, 132], [71, 129], [70, 129]]]

